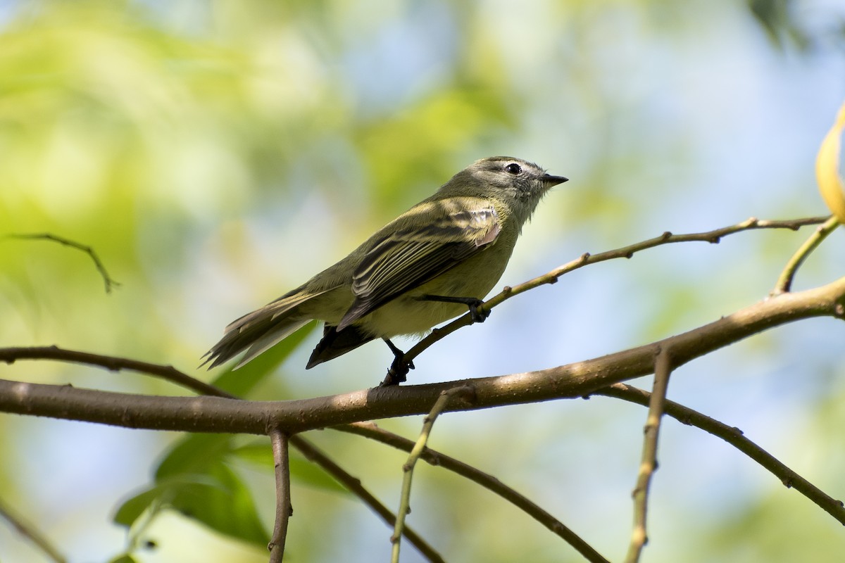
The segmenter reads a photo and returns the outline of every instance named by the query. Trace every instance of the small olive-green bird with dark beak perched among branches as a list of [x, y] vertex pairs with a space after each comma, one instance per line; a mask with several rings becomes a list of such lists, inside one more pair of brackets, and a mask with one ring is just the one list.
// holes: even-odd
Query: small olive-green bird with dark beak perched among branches
[[246, 349], [240, 367], [319, 319], [323, 339], [306, 369], [382, 338], [395, 355], [385, 384], [404, 382], [412, 365], [390, 338], [426, 333], [467, 307], [483, 321], [477, 306], [504, 273], [522, 225], [564, 181], [526, 160], [477, 160], [334, 266], [232, 322], [205, 363]]

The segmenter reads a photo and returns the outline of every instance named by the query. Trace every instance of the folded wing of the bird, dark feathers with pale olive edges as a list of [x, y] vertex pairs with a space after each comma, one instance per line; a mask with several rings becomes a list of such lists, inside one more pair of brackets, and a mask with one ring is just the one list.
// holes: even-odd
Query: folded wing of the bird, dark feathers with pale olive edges
[[433, 219], [431, 214], [419, 214], [420, 219], [376, 241], [352, 276], [355, 301], [337, 330], [493, 243], [501, 230], [496, 209], [482, 200], [470, 201], [475, 204], [433, 202], [429, 208], [434, 210]]

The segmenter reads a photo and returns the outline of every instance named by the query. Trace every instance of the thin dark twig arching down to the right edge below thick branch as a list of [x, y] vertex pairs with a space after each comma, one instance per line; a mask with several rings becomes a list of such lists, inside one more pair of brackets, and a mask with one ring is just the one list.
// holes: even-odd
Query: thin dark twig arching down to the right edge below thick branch
[[[621, 398], [625, 401], [644, 406], [648, 405], [651, 398], [651, 393], [625, 383], [614, 383], [592, 394]], [[801, 495], [806, 496], [810, 501], [813, 501], [822, 510], [830, 514], [831, 517], [834, 517], [837, 522], [845, 525], [845, 505], [843, 505], [842, 501], [838, 501], [827, 495], [824, 491], [811, 484], [810, 481], [795, 473], [792, 469], [780, 462], [777, 457], [772, 456], [771, 453], [766, 452], [766, 450], [746, 438], [739, 428], [711, 419], [706, 414], [701, 414], [698, 411], [684, 407], [684, 405], [674, 403], [673, 401], [666, 401], [664, 407], [666, 414], [675, 420], [679, 420], [682, 424], [701, 428], [701, 430], [705, 430], [713, 436], [727, 441], [728, 444], [743, 452], [756, 463], [759, 463], [766, 471], [777, 477], [784, 486], [797, 490]]]

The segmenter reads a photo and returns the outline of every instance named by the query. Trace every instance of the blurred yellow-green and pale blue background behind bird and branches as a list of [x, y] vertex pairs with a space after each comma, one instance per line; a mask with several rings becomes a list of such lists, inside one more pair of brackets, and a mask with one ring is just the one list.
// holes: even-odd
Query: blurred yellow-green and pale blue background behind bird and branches
[[[845, 97], [834, 0], [512, 3], [232, 0], [0, 2], [0, 345], [59, 344], [196, 370], [235, 317], [344, 256], [473, 160], [570, 177], [527, 225], [501, 285], [582, 252], [750, 216], [826, 214], [820, 139]], [[840, 230], [841, 231], [841, 230]], [[417, 360], [412, 382], [561, 365], [644, 344], [766, 297], [810, 230], [662, 247], [508, 301]], [[836, 232], [798, 288], [842, 276]], [[845, 326], [799, 322], [684, 366], [669, 397], [736, 425], [845, 497]], [[371, 387], [370, 344], [305, 372], [306, 342], [254, 398]], [[407, 343], [403, 343], [407, 344]], [[21, 361], [0, 376], [178, 394], [150, 378]], [[648, 386], [644, 378], [639, 382]], [[645, 410], [608, 398], [448, 414], [431, 446], [539, 501], [603, 555], [630, 534]], [[405, 436], [421, 419], [384, 421]], [[71, 561], [126, 549], [111, 522], [175, 433], [0, 416], [0, 495]], [[310, 439], [388, 506], [404, 455]], [[667, 420], [647, 561], [835, 561], [840, 524], [716, 438]], [[233, 463], [272, 524], [272, 476]], [[448, 560], [580, 560], [504, 501], [418, 466], [409, 523]], [[288, 555], [389, 557], [350, 495], [297, 480]], [[262, 561], [177, 514], [140, 561]], [[44, 561], [0, 522], [0, 560]], [[417, 561], [410, 545], [403, 560]]]

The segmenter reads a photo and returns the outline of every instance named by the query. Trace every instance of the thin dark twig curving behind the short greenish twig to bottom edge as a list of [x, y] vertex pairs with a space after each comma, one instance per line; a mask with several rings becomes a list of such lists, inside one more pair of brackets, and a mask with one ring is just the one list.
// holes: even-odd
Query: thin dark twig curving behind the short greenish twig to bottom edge
[[[414, 447], [413, 441], [394, 434], [388, 430], [384, 430], [383, 428], [379, 428], [379, 426], [373, 422], [354, 422], [350, 425], [331, 426], [330, 430], [340, 430], [341, 432], [348, 432], [371, 440], [380, 441], [383, 444], [395, 447], [396, 449], [404, 452], [411, 452]], [[521, 511], [526, 512], [528, 516], [533, 517], [537, 520], [537, 522], [540, 522], [543, 526], [551, 530], [553, 533], [556, 533], [560, 538], [564, 539], [568, 544], [575, 548], [578, 553], [583, 555], [586, 560], [590, 561], [590, 563], [608, 563], [607, 559], [602, 557], [602, 555], [593, 549], [590, 544], [587, 544], [586, 541], [581, 539], [575, 532], [570, 530], [570, 528], [567, 528], [563, 522], [560, 522], [557, 518], [543, 510], [541, 506], [532, 502], [525, 495], [521, 495], [516, 490], [504, 485], [504, 483], [493, 477], [493, 475], [484, 473], [483, 471], [472, 467], [472, 465], [463, 463], [460, 460], [455, 459], [455, 457], [447, 456], [444, 453], [431, 449], [430, 447], [426, 447], [420, 457], [426, 463], [442, 467], [454, 472], [455, 474], [459, 474], [461, 477], [469, 479], [472, 482], [491, 490], [496, 495], [502, 497], [505, 501], [509, 501]]]

